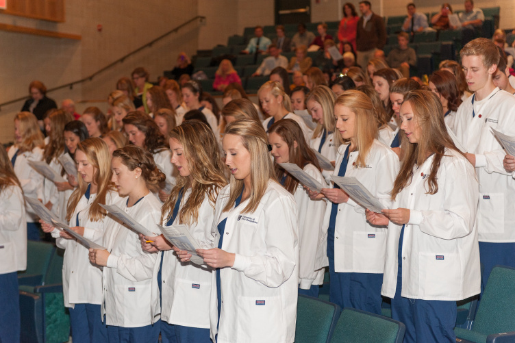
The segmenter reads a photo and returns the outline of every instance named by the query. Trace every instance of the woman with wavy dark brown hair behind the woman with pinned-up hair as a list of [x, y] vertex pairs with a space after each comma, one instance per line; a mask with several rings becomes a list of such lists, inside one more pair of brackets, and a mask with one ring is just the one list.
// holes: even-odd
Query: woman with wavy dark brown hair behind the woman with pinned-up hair
[[[164, 139], [155, 121], [148, 114], [134, 111], [123, 118], [123, 129], [127, 132], [129, 142], [141, 147], [153, 155], [154, 162], [164, 173], [166, 179], [160, 184], [160, 189], [154, 195], [163, 202], [175, 185], [176, 170], [173, 167], [168, 142]], [[171, 127], [170, 129], [173, 129]]]

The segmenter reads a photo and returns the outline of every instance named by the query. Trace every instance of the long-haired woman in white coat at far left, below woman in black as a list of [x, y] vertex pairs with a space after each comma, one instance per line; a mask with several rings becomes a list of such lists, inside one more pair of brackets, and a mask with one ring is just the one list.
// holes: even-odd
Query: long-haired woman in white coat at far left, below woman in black
[[[8, 151], [14, 173], [21, 184], [23, 195], [43, 201], [43, 176], [29, 166], [29, 161], [41, 161], [45, 147], [36, 116], [19, 112], [14, 116], [14, 145]], [[40, 240], [39, 217], [30, 205], [25, 205], [27, 239]]]

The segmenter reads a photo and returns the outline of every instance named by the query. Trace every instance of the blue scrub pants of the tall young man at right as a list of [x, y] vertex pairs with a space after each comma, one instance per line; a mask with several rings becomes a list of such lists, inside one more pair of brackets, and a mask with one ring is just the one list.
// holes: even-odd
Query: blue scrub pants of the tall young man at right
[[494, 266], [509, 266], [515, 268], [515, 243], [479, 242], [479, 259], [484, 270], [481, 275], [481, 296]]

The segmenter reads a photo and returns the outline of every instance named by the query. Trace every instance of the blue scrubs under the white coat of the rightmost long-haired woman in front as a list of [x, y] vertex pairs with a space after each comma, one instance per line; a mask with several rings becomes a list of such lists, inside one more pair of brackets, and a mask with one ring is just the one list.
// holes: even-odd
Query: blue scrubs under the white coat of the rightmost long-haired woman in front
[[403, 322], [406, 326], [404, 343], [455, 343], [454, 327], [457, 313], [455, 301], [410, 299], [401, 296], [403, 237], [404, 225], [399, 238], [397, 288], [392, 298], [392, 318]]

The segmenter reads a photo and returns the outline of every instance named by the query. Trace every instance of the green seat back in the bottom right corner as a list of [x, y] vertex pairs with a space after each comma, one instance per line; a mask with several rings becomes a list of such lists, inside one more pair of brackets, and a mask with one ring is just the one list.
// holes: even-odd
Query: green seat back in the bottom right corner
[[479, 302], [473, 331], [491, 333], [515, 331], [515, 268], [495, 266]]

